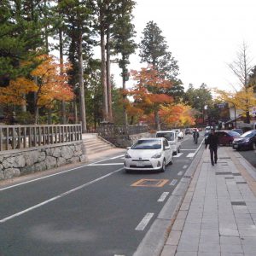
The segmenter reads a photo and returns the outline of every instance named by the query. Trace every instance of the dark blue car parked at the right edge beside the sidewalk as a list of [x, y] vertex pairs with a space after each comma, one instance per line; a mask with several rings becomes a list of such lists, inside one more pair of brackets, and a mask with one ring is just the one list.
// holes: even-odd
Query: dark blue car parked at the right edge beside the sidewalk
[[234, 149], [253, 149], [256, 150], [256, 130], [247, 131], [241, 137], [235, 138], [232, 147]]

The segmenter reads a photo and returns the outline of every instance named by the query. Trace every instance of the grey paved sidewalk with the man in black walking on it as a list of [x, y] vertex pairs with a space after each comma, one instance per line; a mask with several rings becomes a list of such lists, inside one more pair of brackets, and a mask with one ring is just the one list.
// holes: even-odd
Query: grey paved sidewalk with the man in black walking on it
[[215, 166], [205, 150], [161, 256], [255, 256], [255, 171], [230, 147]]

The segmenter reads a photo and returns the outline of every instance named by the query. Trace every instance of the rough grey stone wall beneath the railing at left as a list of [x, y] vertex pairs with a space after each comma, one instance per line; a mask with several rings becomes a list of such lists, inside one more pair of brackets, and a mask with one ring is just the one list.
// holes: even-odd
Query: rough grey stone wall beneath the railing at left
[[86, 160], [83, 142], [15, 149], [0, 154], [0, 180]]

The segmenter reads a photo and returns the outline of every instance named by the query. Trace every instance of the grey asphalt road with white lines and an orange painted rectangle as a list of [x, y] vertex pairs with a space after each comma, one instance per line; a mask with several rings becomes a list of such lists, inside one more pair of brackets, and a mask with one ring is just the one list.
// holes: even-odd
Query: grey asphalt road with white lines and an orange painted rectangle
[[182, 142], [166, 172], [131, 172], [118, 155], [1, 187], [0, 255], [132, 255], [189, 167], [196, 149]]

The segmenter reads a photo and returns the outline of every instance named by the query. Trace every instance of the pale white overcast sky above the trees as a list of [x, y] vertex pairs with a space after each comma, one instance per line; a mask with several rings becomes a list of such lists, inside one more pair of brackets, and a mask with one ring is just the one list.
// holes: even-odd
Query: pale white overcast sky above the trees
[[[149, 20], [160, 27], [169, 51], [179, 66], [178, 78], [187, 90], [202, 83], [223, 90], [237, 88], [238, 81], [228, 64], [236, 60], [243, 42], [252, 65], [256, 65], [256, 0], [137, 0], [133, 24], [140, 43]], [[146, 67], [138, 50], [131, 55], [129, 69]], [[120, 69], [112, 67], [121, 84]], [[131, 86], [130, 81], [128, 86]]]

